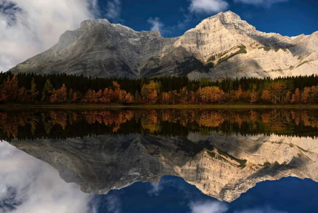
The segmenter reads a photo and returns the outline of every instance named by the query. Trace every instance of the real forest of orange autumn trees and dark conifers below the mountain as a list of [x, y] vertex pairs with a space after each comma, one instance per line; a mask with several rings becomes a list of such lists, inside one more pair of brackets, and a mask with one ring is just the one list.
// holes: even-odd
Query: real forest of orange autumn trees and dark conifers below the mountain
[[236, 78], [91, 78], [0, 73], [0, 103], [317, 104], [318, 76]]

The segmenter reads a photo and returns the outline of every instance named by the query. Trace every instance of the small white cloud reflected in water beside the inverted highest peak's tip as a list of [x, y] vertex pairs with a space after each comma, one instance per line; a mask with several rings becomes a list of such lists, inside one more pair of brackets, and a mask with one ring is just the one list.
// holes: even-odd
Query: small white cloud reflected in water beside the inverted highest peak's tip
[[190, 209], [192, 213], [224, 213], [228, 207], [220, 201], [206, 201], [190, 203]]

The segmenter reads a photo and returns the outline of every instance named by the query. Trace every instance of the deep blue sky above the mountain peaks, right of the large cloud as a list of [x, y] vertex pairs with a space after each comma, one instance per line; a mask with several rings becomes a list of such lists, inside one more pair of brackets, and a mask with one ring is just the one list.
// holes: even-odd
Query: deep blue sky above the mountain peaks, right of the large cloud
[[[155, 25], [165, 37], [180, 36], [204, 18], [227, 10], [264, 32], [296, 36], [318, 30], [316, 0], [100, 0], [99, 5], [101, 18], [138, 31]], [[117, 12], [109, 16], [110, 10]]]

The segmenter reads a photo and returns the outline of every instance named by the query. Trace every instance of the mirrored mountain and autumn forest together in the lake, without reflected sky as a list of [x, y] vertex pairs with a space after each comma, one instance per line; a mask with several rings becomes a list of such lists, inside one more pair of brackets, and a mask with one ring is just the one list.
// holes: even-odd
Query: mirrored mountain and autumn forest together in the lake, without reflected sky
[[1, 111], [0, 137], [83, 192], [183, 178], [232, 202], [282, 177], [318, 181], [317, 110]]

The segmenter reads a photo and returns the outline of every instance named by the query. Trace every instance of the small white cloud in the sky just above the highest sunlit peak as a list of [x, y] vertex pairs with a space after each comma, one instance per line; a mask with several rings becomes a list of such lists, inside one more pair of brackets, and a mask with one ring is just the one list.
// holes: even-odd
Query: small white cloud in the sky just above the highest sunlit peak
[[228, 8], [229, 4], [224, 0], [191, 0], [190, 12], [217, 13]]

